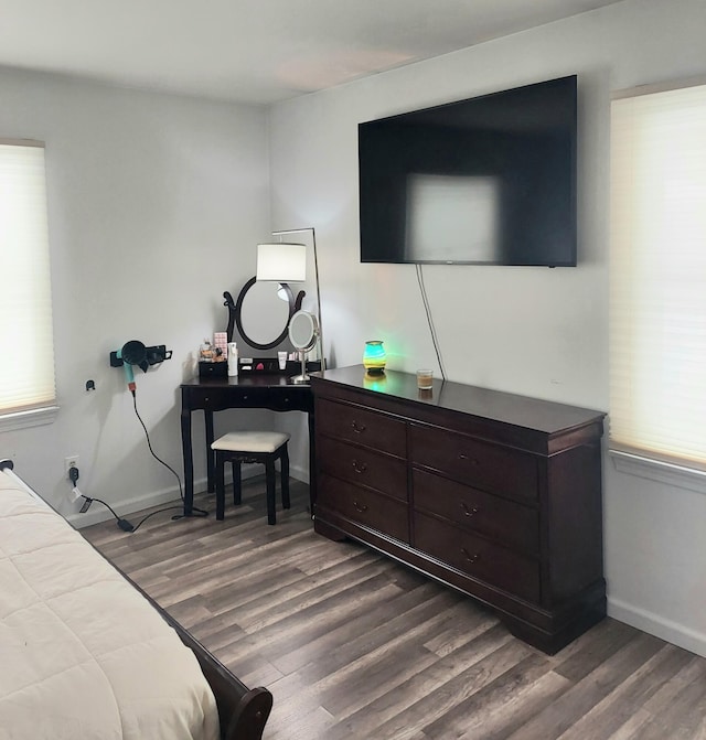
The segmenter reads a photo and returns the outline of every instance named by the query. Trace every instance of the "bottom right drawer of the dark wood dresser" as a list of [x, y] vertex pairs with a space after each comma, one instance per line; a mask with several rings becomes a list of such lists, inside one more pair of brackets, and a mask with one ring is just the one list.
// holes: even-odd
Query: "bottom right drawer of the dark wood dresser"
[[414, 547], [442, 562], [538, 603], [539, 564], [419, 512], [414, 515]]

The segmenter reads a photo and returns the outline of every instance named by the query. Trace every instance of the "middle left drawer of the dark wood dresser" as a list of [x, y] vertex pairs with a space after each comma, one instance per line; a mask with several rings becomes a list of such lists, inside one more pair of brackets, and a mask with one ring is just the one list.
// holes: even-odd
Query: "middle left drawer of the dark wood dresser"
[[324, 473], [407, 502], [407, 466], [403, 460], [329, 437], [317, 440], [317, 458]]

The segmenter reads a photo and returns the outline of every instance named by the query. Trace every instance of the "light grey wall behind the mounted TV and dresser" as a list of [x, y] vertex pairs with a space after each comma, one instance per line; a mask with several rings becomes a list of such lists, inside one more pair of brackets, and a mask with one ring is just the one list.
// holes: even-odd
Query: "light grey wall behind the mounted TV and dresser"
[[[706, 72], [703, 0], [627, 0], [445, 57], [300, 97], [271, 111], [272, 225], [314, 226], [327, 355], [435, 365], [411, 266], [359, 262], [360, 121], [579, 76], [579, 260], [575, 269], [424, 268], [450, 379], [608, 410], [610, 93]], [[706, 655], [706, 495], [606, 462], [610, 611]]]

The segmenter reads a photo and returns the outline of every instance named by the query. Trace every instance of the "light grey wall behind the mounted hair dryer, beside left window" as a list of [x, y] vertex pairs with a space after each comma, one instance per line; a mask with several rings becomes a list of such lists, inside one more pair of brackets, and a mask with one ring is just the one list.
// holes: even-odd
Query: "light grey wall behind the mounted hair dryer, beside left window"
[[[172, 500], [176, 480], [150, 457], [108, 355], [131, 339], [173, 351], [136, 371], [137, 401], [154, 451], [181, 475], [179, 384], [204, 336], [225, 330], [223, 291], [254, 275], [254, 245], [270, 230], [265, 112], [0, 69], [0, 137], [46, 142], [61, 406], [54, 423], [1, 432], [0, 457], [67, 515], [72, 454], [81, 490], [121, 514]], [[94, 504], [82, 521], [105, 514]]]

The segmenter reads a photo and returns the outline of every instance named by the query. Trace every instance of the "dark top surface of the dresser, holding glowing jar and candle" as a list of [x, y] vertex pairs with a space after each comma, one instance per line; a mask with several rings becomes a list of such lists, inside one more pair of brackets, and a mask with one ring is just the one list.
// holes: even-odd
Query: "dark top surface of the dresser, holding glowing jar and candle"
[[437, 378], [429, 394], [418, 390], [416, 375], [386, 369], [382, 376], [370, 376], [363, 365], [312, 373], [311, 377], [314, 393], [332, 383], [363, 394], [491, 419], [547, 435], [595, 423], [606, 416], [603, 411]]

